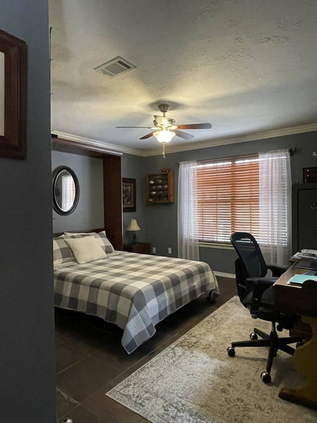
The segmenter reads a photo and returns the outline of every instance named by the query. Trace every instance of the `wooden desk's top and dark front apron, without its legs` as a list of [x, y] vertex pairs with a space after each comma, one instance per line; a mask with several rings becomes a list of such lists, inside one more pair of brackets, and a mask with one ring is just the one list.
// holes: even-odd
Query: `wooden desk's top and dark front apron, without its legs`
[[295, 267], [295, 262], [274, 283], [275, 307], [298, 316], [317, 317], [317, 282], [306, 281], [302, 286], [288, 285], [287, 282], [296, 273], [303, 274], [307, 269]]

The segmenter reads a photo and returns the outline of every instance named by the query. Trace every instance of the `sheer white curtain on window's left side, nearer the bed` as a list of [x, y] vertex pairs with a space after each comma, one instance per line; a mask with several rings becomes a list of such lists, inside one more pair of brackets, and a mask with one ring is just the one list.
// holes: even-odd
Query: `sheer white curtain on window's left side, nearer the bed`
[[196, 162], [179, 164], [177, 212], [178, 257], [199, 260]]

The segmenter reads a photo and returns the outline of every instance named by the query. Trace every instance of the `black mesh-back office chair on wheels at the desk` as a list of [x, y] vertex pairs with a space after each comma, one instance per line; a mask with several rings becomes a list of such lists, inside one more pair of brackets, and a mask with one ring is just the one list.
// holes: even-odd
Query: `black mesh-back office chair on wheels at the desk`
[[[235, 272], [240, 301], [253, 318], [270, 321], [272, 328], [269, 335], [254, 328], [250, 335], [251, 341], [232, 342], [227, 353], [233, 357], [235, 347], [269, 347], [266, 371], [261, 373], [262, 380], [269, 383], [273, 358], [277, 351], [282, 350], [293, 355], [295, 349], [288, 344], [302, 343], [299, 337], [278, 338], [276, 333], [276, 329], [292, 329], [298, 319], [297, 316], [280, 313], [274, 308], [272, 285], [288, 266], [266, 265], [259, 244], [251, 234], [235, 232], [230, 240], [239, 256], [235, 261]], [[266, 277], [267, 269], [271, 270], [272, 277]], [[258, 336], [262, 339], [258, 339]]]

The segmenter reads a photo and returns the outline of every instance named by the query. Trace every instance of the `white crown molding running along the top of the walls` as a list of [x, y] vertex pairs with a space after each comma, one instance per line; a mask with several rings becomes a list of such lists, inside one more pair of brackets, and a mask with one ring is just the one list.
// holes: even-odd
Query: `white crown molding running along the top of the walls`
[[[276, 129], [272, 131], [257, 132], [253, 134], [247, 134], [247, 135], [238, 135], [238, 136], [226, 137], [226, 138], [215, 138], [209, 141], [203, 141], [199, 143], [179, 144], [175, 147], [173, 147], [172, 145], [168, 145], [166, 154], [178, 153], [180, 151], [198, 150], [200, 148], [215, 147], [218, 145], [235, 144], [238, 142], [255, 141], [258, 139], [274, 138], [277, 136], [294, 135], [298, 133], [313, 132], [313, 131], [317, 131], [317, 123], [312, 123], [310, 125], [303, 125], [303, 126], [294, 126], [290, 128], [284, 128], [284, 129]], [[106, 147], [112, 150], [120, 151], [122, 153], [133, 154], [135, 156], [140, 156], [140, 157], [158, 156], [162, 154], [161, 148], [156, 148], [156, 149], [148, 150], [148, 151], [141, 151], [141, 150], [136, 150], [132, 148], [122, 147], [115, 144], [108, 144], [108, 143], [97, 141], [90, 138], [84, 138], [84, 137], [80, 137], [80, 136], [76, 136], [72, 134], [67, 134], [64, 132], [59, 132], [59, 131], [51, 131], [51, 132], [53, 134], [56, 134], [60, 138], [74, 140], [74, 141], [82, 142], [85, 144], [89, 143], [92, 145], [96, 145], [98, 147], [104, 147], [104, 148]]]

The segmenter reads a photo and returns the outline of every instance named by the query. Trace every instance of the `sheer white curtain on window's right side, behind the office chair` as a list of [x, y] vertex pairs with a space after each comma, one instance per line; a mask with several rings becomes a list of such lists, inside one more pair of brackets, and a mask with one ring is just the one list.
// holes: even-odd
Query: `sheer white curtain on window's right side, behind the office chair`
[[267, 263], [287, 264], [291, 245], [289, 150], [259, 153], [260, 240]]

